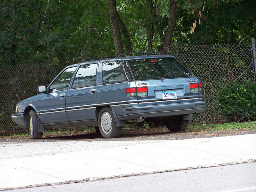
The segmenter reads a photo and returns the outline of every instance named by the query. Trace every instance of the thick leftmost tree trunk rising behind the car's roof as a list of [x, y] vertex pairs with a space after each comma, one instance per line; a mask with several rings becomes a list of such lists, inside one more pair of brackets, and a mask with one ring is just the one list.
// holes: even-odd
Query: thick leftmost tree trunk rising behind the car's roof
[[118, 24], [118, 12], [116, 11], [116, 0], [108, 0], [109, 10], [109, 22], [112, 26], [114, 46], [116, 49], [116, 55], [124, 54], [124, 48], [122, 45], [120, 29]]

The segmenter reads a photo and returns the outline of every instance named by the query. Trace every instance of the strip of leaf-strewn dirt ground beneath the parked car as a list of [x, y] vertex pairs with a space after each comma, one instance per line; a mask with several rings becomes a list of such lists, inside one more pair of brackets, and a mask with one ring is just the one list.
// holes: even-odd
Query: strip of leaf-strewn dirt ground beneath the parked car
[[183, 140], [192, 138], [210, 138], [219, 136], [232, 136], [241, 134], [256, 134], [252, 129], [228, 129], [228, 130], [204, 130], [171, 133], [164, 126], [149, 128], [123, 128], [119, 138], [105, 139], [100, 134], [96, 134], [94, 128], [86, 132], [76, 133], [44, 133], [40, 140], [32, 140], [29, 136], [0, 137], [0, 142], [58, 142], [68, 140]]

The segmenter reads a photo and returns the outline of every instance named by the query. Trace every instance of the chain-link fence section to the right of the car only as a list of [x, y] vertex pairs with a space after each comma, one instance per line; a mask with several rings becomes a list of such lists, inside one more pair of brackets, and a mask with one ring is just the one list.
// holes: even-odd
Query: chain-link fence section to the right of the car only
[[221, 85], [242, 83], [244, 78], [255, 81], [252, 52], [245, 44], [175, 45], [170, 47], [170, 54], [202, 80], [206, 111], [194, 115], [194, 120], [201, 123], [226, 121], [216, 102], [215, 93]]

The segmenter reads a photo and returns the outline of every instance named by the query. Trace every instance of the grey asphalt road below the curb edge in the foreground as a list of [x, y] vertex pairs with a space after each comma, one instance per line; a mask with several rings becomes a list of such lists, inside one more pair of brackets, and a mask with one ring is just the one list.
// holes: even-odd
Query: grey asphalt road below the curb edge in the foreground
[[33, 188], [10, 192], [255, 192], [256, 162], [180, 170]]

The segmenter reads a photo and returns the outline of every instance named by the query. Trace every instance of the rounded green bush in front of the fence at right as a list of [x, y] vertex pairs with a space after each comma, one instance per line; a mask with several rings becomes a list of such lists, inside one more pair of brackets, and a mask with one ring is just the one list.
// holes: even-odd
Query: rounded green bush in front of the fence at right
[[256, 83], [230, 82], [217, 95], [218, 104], [229, 121], [256, 120]]

